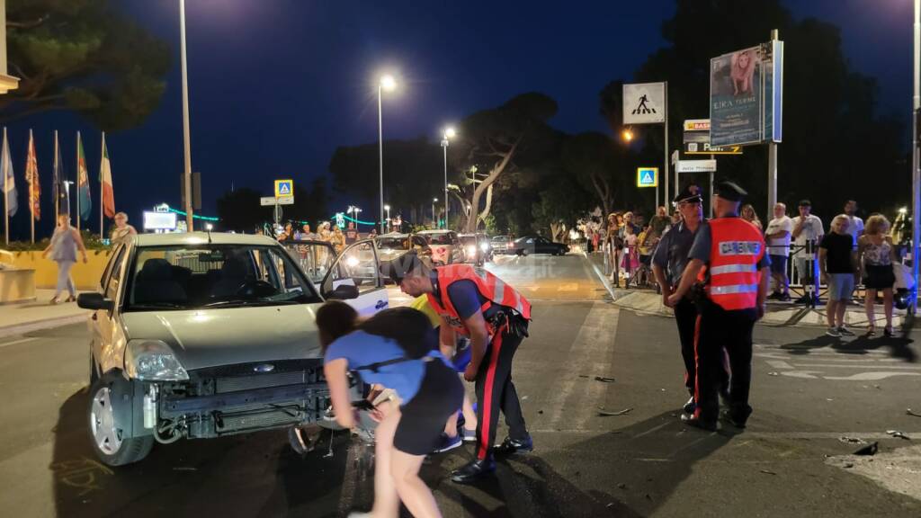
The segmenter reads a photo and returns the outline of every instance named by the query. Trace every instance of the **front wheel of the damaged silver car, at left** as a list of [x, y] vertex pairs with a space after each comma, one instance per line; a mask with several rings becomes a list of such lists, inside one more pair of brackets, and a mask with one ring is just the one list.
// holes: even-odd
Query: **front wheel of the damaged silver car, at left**
[[105, 465], [127, 465], [140, 461], [154, 447], [154, 437], [125, 437], [116, 405], [124, 405], [113, 391], [115, 375], [103, 376], [89, 389], [87, 425], [89, 441], [99, 460]]

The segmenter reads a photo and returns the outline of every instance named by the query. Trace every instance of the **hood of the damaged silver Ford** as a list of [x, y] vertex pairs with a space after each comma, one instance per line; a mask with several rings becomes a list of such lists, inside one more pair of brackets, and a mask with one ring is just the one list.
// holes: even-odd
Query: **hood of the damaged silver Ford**
[[128, 339], [162, 340], [186, 371], [255, 361], [322, 358], [320, 304], [122, 314]]

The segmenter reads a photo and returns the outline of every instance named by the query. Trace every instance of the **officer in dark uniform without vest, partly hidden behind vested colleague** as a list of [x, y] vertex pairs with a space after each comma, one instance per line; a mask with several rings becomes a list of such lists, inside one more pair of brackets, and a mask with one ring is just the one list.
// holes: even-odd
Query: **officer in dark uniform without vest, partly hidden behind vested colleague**
[[[694, 386], [697, 380], [696, 359], [694, 357], [694, 327], [697, 323], [697, 307], [690, 297], [682, 297], [677, 303], [672, 304], [669, 297], [678, 288], [684, 267], [690, 259], [691, 245], [694, 244], [694, 235], [704, 221], [703, 198], [694, 192], [691, 187], [678, 193], [673, 204], [682, 214], [681, 223], [674, 225], [665, 232], [652, 256], [652, 272], [662, 289], [662, 303], [675, 312], [675, 324], [678, 324], [678, 338], [682, 344], [682, 359], [684, 360], [684, 386], [691, 398], [684, 404], [682, 410], [686, 415], [694, 414]], [[729, 383], [729, 374], [725, 369], [719, 372], [720, 387]]]

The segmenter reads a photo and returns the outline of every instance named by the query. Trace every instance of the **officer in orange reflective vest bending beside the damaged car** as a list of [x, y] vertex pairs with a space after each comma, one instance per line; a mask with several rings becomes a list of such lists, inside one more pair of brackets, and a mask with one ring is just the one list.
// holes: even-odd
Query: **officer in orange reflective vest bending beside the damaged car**
[[[470, 337], [471, 360], [463, 376], [476, 383], [476, 458], [451, 473], [451, 480], [467, 483], [493, 473], [494, 453], [530, 452], [533, 442], [511, 378], [515, 351], [528, 336], [530, 302], [484, 269], [447, 265], [429, 270], [412, 252], [381, 265], [381, 271], [404, 293], [428, 296], [442, 318], [442, 349], [454, 347], [457, 333]], [[500, 409], [508, 437], [493, 448]]]

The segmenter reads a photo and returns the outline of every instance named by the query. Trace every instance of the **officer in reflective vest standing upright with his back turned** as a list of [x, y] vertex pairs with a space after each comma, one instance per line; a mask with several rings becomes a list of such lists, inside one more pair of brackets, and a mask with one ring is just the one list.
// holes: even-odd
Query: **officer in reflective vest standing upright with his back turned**
[[[669, 298], [677, 303], [702, 281], [698, 293], [699, 316], [694, 336], [697, 383], [691, 426], [717, 430], [717, 418], [745, 428], [752, 414], [752, 329], [764, 316], [770, 277], [770, 259], [764, 253], [761, 231], [739, 218], [745, 191], [733, 182], [714, 186], [716, 219], [697, 231], [678, 289]], [[699, 287], [700, 285], [698, 285]], [[720, 415], [717, 399], [721, 348], [729, 354], [729, 408]]]

